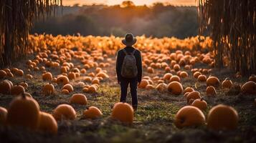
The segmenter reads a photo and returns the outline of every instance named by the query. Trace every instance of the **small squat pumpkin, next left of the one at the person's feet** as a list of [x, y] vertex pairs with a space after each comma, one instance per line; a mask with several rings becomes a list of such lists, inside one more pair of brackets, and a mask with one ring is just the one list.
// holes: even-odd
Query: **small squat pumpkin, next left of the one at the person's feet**
[[97, 119], [103, 116], [103, 113], [97, 107], [89, 107], [83, 112], [86, 119]]

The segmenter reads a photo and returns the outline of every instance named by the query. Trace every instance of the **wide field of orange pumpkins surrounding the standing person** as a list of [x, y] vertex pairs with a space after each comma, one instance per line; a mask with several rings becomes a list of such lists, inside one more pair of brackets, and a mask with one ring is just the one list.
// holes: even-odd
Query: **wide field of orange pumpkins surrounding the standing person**
[[[212, 39], [136, 36], [142, 76], [136, 83], [127, 79], [127, 91], [120, 89], [123, 80], [119, 83], [115, 71], [121, 39], [30, 35], [29, 56], [0, 69], [0, 134], [16, 136], [19, 128], [19, 134], [29, 134], [27, 142], [30, 136], [48, 142], [205, 142], [212, 137], [232, 142], [226, 131], [232, 130], [237, 142], [247, 136], [255, 141], [255, 75], [217, 69]], [[131, 87], [137, 87], [135, 106]], [[123, 92], [126, 100], [120, 99]], [[210, 130], [222, 132], [212, 136]]]

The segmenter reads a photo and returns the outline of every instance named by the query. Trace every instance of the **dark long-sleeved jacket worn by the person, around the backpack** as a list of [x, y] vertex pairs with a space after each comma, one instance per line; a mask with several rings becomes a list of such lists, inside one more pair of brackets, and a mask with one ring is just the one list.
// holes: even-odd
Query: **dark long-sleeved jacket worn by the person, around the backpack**
[[[133, 52], [133, 50], [136, 50], [134, 53], [134, 56], [136, 58], [136, 66], [138, 69], [138, 74], [136, 79], [138, 82], [141, 82], [141, 77], [142, 77], [142, 61], [141, 61], [141, 51], [138, 51], [138, 49], [133, 48], [132, 46], [126, 46], [124, 48], [128, 53]], [[118, 81], [122, 80], [122, 79], [127, 79], [125, 77], [121, 76], [121, 69], [122, 69], [122, 65], [123, 65], [123, 59], [125, 58], [125, 53], [123, 51], [123, 49], [120, 49], [118, 51], [118, 56], [116, 58], [116, 74], [118, 75]]]

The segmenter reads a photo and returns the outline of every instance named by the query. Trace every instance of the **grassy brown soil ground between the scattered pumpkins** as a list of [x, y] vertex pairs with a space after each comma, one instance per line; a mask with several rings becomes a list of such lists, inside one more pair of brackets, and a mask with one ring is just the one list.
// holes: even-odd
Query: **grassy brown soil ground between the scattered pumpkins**
[[[30, 55], [27, 59], [32, 59]], [[21, 59], [13, 66], [27, 72], [27, 59]], [[79, 64], [78, 61], [72, 61]], [[209, 68], [206, 64], [196, 64], [194, 68]], [[88, 99], [87, 107], [95, 106], [101, 109], [103, 117], [100, 119], [82, 119], [82, 112], [85, 106], [72, 104], [77, 112], [77, 119], [74, 121], [58, 122], [58, 134], [44, 134], [39, 132], [28, 132], [24, 129], [6, 129], [0, 127], [0, 142], [256, 142], [256, 106], [254, 104], [255, 95], [231, 94], [226, 95], [224, 89], [217, 89], [217, 97], [207, 97], [205, 95], [206, 84], [198, 83], [189, 71], [189, 77], [181, 79], [184, 87], [194, 87], [199, 91], [208, 103], [208, 109], [217, 104], [227, 104], [237, 109], [239, 114], [239, 126], [233, 131], [211, 131], [207, 127], [189, 127], [177, 129], [174, 126], [174, 115], [181, 107], [186, 105], [183, 95], [174, 96], [168, 92], [158, 92], [156, 90], [138, 89], [138, 111], [135, 113], [132, 125], [122, 124], [110, 119], [111, 107], [119, 101], [120, 89], [115, 77], [115, 57], [111, 57], [110, 66], [103, 68], [108, 71], [110, 79], [105, 79], [100, 83], [100, 88], [95, 94], [85, 94]], [[93, 69], [92, 69], [93, 70]], [[54, 76], [60, 74], [59, 69], [47, 68]], [[89, 73], [90, 70], [87, 71]], [[40, 108], [44, 112], [52, 113], [58, 104], [68, 104], [68, 99], [75, 93], [81, 93], [82, 88], [77, 84], [84, 82], [82, 78], [72, 81], [75, 91], [65, 95], [60, 93], [60, 86], [54, 84], [57, 92], [54, 96], [42, 96], [42, 86], [47, 82], [42, 81], [42, 73], [32, 71], [33, 80], [27, 80], [34, 99], [39, 102]], [[146, 69], [143, 76], [162, 77], [163, 70], [156, 69], [154, 74], [148, 74]], [[228, 69], [213, 69], [212, 75], [219, 77], [223, 81], [226, 77], [238, 84], [245, 83], [245, 78], [234, 78], [234, 73]], [[207, 74], [209, 75], [209, 74]], [[82, 75], [83, 76], [83, 75]], [[10, 79], [11, 82], [23, 82], [23, 77]], [[195, 85], [196, 83], [196, 85]], [[89, 83], [88, 83], [89, 84]], [[197, 88], [196, 88], [196, 87]], [[8, 108], [11, 95], [0, 95], [0, 106]], [[128, 94], [128, 103], [131, 103], [131, 94]]]

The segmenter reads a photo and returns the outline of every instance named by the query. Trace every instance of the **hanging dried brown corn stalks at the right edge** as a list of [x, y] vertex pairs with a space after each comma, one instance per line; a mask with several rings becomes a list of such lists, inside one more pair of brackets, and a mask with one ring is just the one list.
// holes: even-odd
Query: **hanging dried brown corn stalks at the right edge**
[[215, 64], [256, 73], [256, 1], [199, 0], [200, 33], [214, 41]]

